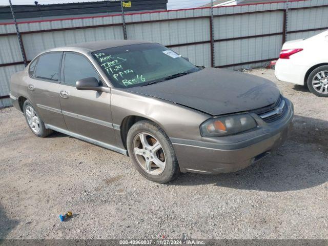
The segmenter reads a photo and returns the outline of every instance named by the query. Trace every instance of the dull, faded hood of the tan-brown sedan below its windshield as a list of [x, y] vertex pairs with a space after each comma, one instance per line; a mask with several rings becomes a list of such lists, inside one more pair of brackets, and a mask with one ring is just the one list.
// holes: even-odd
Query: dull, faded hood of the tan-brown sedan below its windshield
[[210, 115], [258, 109], [275, 103], [280, 95], [276, 85], [268, 79], [215, 68], [125, 90], [168, 100]]

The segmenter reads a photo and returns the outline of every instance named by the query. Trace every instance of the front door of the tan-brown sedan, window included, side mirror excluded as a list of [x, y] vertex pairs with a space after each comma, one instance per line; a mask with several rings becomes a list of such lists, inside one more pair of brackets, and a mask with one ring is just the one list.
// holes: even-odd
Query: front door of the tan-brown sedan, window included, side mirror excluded
[[[79, 91], [79, 79], [101, 78], [87, 57], [74, 52], [64, 52], [59, 101], [70, 132], [96, 141], [116, 145], [110, 108], [111, 94], [98, 91]], [[90, 141], [90, 139], [87, 139]], [[96, 144], [99, 145], [99, 142]], [[100, 144], [101, 145], [101, 144]]]

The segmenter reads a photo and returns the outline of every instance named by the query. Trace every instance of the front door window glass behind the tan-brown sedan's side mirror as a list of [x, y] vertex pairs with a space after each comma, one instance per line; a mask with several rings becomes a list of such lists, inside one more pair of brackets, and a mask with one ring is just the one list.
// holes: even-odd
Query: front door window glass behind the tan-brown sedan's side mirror
[[64, 83], [75, 86], [79, 79], [95, 77], [99, 81], [99, 75], [90, 61], [82, 55], [66, 53], [64, 58]]

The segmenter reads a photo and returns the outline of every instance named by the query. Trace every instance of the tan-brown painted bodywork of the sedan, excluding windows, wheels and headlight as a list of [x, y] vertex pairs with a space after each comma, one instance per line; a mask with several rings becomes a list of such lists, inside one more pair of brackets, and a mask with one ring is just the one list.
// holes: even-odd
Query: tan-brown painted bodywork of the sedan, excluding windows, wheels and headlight
[[[113, 47], [135, 49], [138, 45], [152, 44], [136, 40], [115, 40], [45, 51], [37, 57], [52, 52], [61, 53], [63, 57], [57, 81], [31, 76], [29, 70], [35, 59], [32, 60], [24, 71], [12, 76], [10, 97], [13, 105], [24, 112], [24, 102], [28, 100], [32, 110], [35, 110], [33, 122], [38, 122], [39, 118], [46, 129], [130, 156], [132, 153], [128, 151], [127, 139], [129, 131], [140, 120], [152, 122], [168, 137], [168, 148], [173, 148], [172, 156], [177, 160], [179, 172], [238, 171], [277, 149], [288, 137], [293, 105], [271, 81], [263, 78], [230, 70], [195, 68], [192, 73], [154, 84], [135, 84], [126, 88], [115, 86], [113, 79], [109, 78], [99, 60], [96, 60], [94, 52]], [[162, 52], [169, 54], [166, 50]], [[85, 84], [84, 80], [77, 81], [76, 86], [63, 83], [67, 53], [76, 53], [86, 58], [98, 73], [101, 85], [96, 89], [81, 89], [77, 88], [78, 83]], [[169, 55], [177, 58], [174, 54]], [[107, 57], [111, 59], [110, 55]], [[92, 84], [92, 81], [89, 79], [87, 83]], [[254, 119], [256, 127], [223, 136], [204, 136], [201, 133], [202, 124], [209, 119], [238, 114]], [[28, 118], [27, 121], [32, 122]], [[147, 132], [147, 127], [144, 129]], [[152, 136], [156, 133], [149, 134]], [[159, 139], [156, 136], [154, 138]], [[156, 158], [146, 152], [140, 154], [141, 160]], [[164, 155], [168, 157], [168, 153]], [[162, 169], [165, 168], [163, 165]], [[152, 179], [152, 170], [151, 167], [149, 170], [146, 168], [149, 175], [143, 175]], [[167, 182], [173, 176], [165, 180], [152, 180]]]

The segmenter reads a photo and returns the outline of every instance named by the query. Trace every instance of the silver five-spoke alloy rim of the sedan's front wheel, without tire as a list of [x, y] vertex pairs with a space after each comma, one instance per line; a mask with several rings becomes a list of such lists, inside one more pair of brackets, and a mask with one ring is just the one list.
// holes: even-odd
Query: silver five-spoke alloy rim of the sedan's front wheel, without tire
[[152, 175], [161, 174], [166, 167], [166, 157], [160, 142], [149, 133], [139, 133], [133, 140], [135, 158], [142, 169]]

